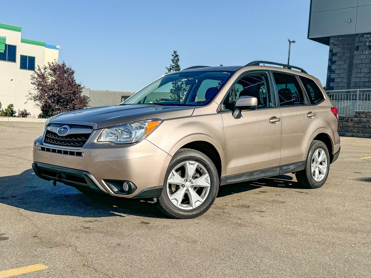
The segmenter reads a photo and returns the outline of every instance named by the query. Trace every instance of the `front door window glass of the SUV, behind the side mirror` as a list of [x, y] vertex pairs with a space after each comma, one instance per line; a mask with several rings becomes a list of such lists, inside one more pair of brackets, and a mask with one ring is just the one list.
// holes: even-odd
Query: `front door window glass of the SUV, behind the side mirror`
[[272, 107], [272, 93], [266, 73], [250, 73], [242, 76], [232, 87], [223, 102], [223, 110], [234, 110], [240, 96], [257, 98], [257, 109]]

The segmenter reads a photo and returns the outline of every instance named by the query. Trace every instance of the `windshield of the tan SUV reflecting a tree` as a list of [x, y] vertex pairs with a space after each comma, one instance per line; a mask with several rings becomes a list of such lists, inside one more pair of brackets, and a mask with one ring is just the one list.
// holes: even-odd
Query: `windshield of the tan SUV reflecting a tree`
[[121, 105], [206, 105], [214, 99], [233, 72], [190, 71], [162, 76]]

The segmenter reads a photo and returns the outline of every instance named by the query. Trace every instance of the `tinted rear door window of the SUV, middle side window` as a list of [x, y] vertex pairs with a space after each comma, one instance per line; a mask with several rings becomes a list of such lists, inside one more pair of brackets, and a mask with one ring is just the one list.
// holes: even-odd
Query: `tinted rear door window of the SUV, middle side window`
[[279, 105], [305, 105], [304, 94], [295, 75], [273, 72], [275, 78]]

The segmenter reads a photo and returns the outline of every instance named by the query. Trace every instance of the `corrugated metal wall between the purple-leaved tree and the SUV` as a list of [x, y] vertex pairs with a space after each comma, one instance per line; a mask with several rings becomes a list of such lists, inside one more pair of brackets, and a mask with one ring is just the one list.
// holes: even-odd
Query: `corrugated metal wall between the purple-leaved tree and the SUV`
[[100, 107], [109, 105], [118, 105], [129, 96], [134, 95], [132, 92], [119, 91], [101, 91], [84, 88], [83, 94], [89, 97], [89, 107]]

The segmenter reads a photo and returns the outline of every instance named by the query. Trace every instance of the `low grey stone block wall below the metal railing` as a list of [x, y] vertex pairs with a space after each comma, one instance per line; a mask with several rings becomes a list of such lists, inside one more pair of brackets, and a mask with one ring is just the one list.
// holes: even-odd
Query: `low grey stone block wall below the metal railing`
[[371, 112], [356, 111], [355, 115], [339, 116], [340, 136], [371, 138]]

